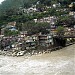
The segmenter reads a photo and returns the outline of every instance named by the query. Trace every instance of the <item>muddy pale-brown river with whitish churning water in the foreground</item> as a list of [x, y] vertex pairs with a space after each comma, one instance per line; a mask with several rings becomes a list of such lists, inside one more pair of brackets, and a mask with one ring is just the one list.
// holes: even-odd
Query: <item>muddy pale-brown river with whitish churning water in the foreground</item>
[[31, 57], [0, 56], [0, 75], [75, 75], [75, 44]]

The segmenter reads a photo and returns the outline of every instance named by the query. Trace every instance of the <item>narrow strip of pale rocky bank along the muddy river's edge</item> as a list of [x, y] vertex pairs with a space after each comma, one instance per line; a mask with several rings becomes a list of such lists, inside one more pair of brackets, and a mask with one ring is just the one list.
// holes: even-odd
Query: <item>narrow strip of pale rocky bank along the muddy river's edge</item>
[[[74, 43], [70, 43], [70, 44], [67, 44], [66, 46], [70, 46]], [[24, 50], [24, 51], [21, 51], [21, 50], [7, 50], [7, 51], [4, 51], [4, 50], [0, 50], [0, 55], [3, 55], [3, 56], [32, 56], [32, 55], [38, 55], [38, 54], [46, 54], [46, 53], [51, 53], [52, 51], [56, 51], [56, 50], [59, 50], [59, 49], [62, 49], [64, 47], [52, 47], [50, 49], [47, 49], [47, 50]]]

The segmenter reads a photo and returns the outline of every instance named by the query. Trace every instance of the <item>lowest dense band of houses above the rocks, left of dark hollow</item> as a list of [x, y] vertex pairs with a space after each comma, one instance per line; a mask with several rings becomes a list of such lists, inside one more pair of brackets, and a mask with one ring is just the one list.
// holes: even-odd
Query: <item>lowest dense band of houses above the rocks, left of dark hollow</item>
[[37, 46], [49, 47], [53, 45], [53, 38], [51, 35], [36, 34], [32, 36], [26, 36], [25, 34], [19, 34], [17, 36], [5, 37], [0, 39], [0, 48], [12, 49], [20, 48], [22, 50], [35, 49]]

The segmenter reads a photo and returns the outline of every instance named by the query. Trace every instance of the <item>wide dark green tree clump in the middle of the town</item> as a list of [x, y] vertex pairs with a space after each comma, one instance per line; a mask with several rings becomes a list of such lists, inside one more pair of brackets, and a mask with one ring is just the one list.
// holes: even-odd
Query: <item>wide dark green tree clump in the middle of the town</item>
[[42, 34], [47, 34], [49, 33], [49, 31], [46, 29], [49, 29], [49, 27], [49, 23], [35, 23], [33, 21], [17, 24], [17, 29], [19, 31], [28, 31], [29, 35], [36, 34], [39, 32], [42, 32]]

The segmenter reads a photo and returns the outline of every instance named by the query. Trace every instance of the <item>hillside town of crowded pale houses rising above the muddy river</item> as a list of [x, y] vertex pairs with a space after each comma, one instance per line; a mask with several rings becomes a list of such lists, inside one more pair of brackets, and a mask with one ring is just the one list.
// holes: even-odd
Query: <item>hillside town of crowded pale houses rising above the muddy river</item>
[[[52, 4], [51, 6], [42, 6], [40, 8], [38, 1], [36, 5], [32, 5], [29, 8], [19, 7], [17, 14], [34, 16], [34, 18], [31, 19], [33, 24], [48, 23], [48, 27], [42, 27], [42, 32], [40, 30], [32, 33], [32, 31], [35, 32], [35, 30], [38, 29], [34, 29], [33, 27], [31, 30], [30, 27], [30, 31], [28, 31], [23, 22], [19, 23], [21, 27], [19, 27], [17, 21], [8, 22], [2, 25], [0, 29], [0, 51], [6, 51], [8, 55], [18, 56], [29, 52], [32, 52], [31, 54], [36, 54], [41, 51], [46, 52], [47, 50], [51, 52], [53, 47], [65, 47], [67, 44], [73, 44], [75, 42], [75, 11], [71, 9], [74, 4], [75, 2], [72, 2], [67, 8], [61, 8], [60, 3]], [[58, 16], [57, 14], [49, 15], [51, 9], [54, 9], [54, 12], [59, 12], [60, 17], [68, 17], [67, 20], [63, 18], [60, 20], [59, 13]], [[38, 14], [40, 18], [35, 16]], [[44, 14], [44, 16], [42, 16], [42, 14]], [[71, 20], [68, 20], [70, 17]], [[71, 22], [72, 19], [73, 22]], [[58, 26], [58, 24], [62, 26]], [[43, 30], [43, 28], [45, 30]], [[44, 33], [46, 31], [48, 33]], [[4, 55], [7, 55], [6, 53], [4, 52]]]

